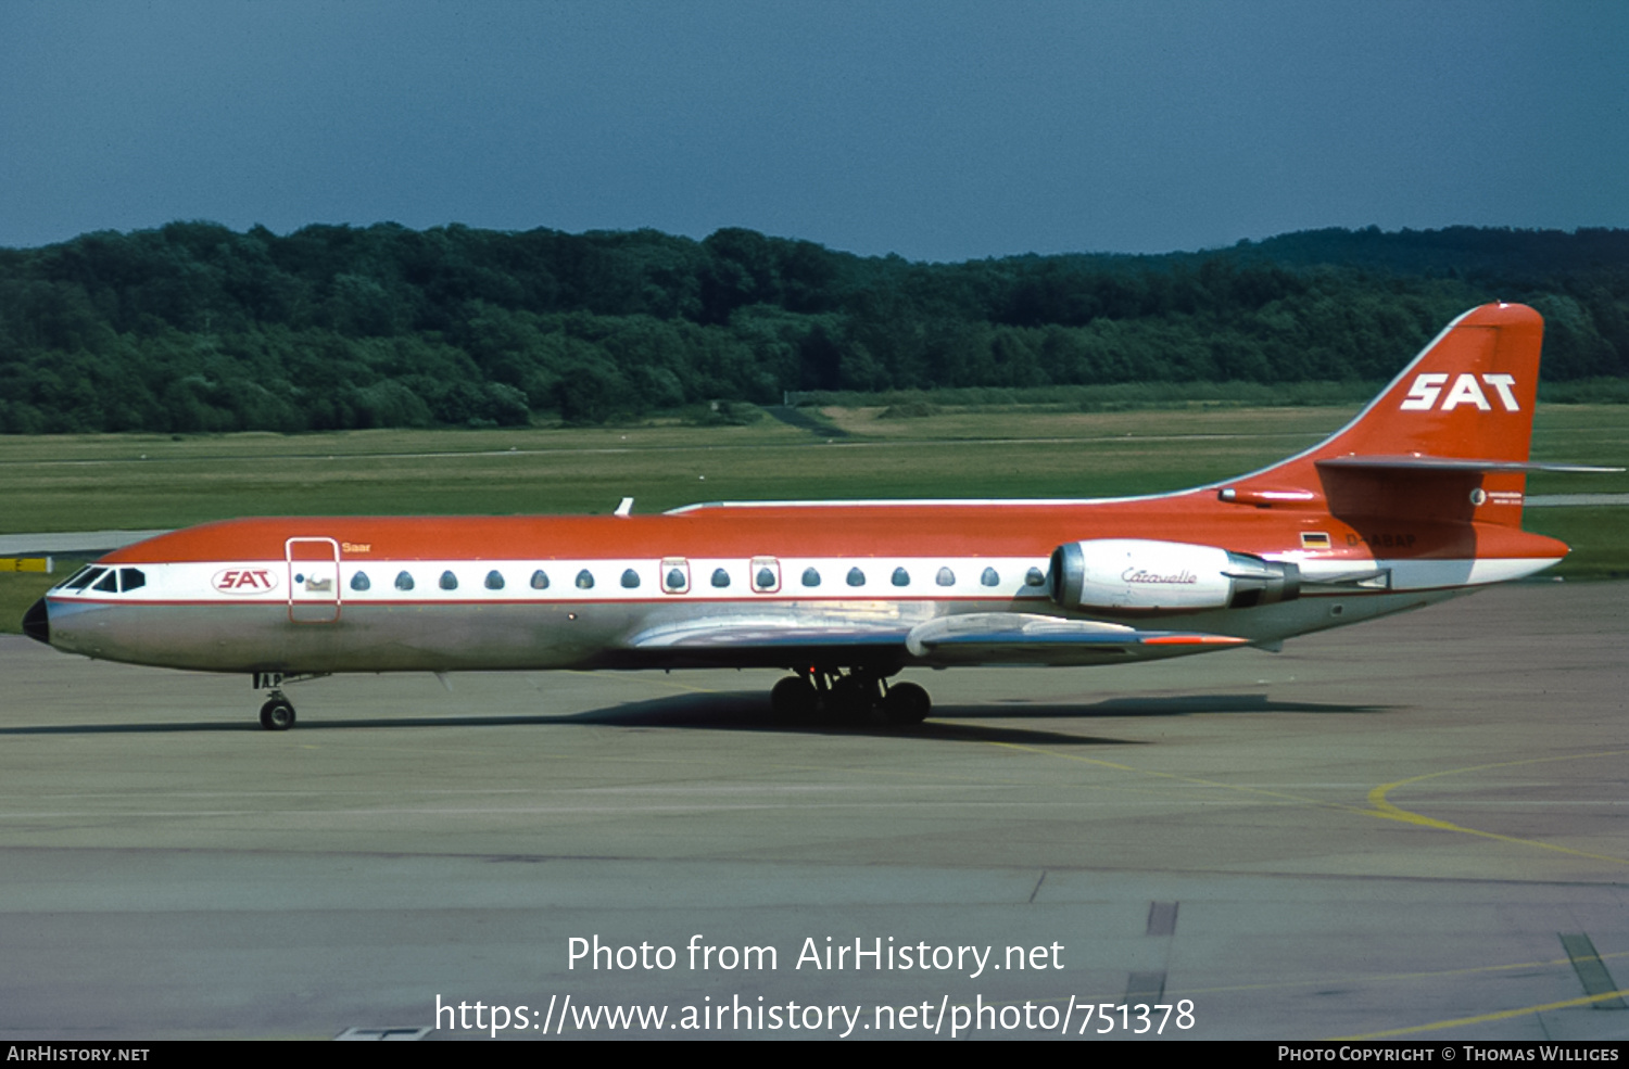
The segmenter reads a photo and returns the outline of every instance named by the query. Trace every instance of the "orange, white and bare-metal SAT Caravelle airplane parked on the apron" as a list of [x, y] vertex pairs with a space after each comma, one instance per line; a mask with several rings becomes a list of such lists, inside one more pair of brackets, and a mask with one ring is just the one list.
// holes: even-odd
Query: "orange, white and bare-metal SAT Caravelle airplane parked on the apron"
[[1474, 308], [1321, 444], [1113, 500], [715, 501], [634, 516], [264, 517], [116, 550], [36, 602], [57, 649], [269, 692], [334, 672], [777, 667], [784, 718], [914, 724], [907, 667], [1096, 665], [1419, 609], [1562, 560], [1521, 530], [1544, 322]]

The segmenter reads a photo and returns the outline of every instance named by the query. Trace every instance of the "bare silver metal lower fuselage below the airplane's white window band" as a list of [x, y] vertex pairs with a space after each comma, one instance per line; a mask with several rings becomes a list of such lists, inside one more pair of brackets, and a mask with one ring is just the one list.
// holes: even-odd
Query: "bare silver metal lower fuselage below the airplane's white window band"
[[[1305, 597], [1240, 612], [1191, 613], [1184, 628], [1223, 631], [1254, 644], [1276, 644], [1297, 635], [1373, 620], [1445, 600], [1466, 591], [1404, 591]], [[1044, 604], [1044, 602], [1043, 602]], [[894, 625], [899, 635], [948, 612], [1036, 612], [1028, 600], [956, 602], [784, 602], [777, 613], [863, 622], [868, 628]], [[1051, 607], [1049, 607], [1051, 609]], [[1052, 609], [1056, 612], [1056, 609]], [[1201, 652], [1202, 648], [1150, 648], [1139, 656], [1122, 649], [1015, 649], [1012, 656], [981, 651], [977, 661], [953, 651], [930, 657], [911, 654], [898, 641], [834, 643], [714, 651], [705, 646], [634, 644], [639, 635], [665, 625], [712, 620], [728, 626], [762, 618], [746, 604], [707, 607], [676, 604], [458, 604], [458, 605], [345, 605], [334, 620], [300, 623], [283, 604], [233, 605], [111, 605], [54, 602], [50, 644], [104, 661], [150, 664], [205, 672], [453, 672], [512, 669], [673, 669], [673, 667], [795, 667], [801, 664], [875, 664], [876, 667], [950, 667], [956, 664], [1091, 665], [1147, 661]]]

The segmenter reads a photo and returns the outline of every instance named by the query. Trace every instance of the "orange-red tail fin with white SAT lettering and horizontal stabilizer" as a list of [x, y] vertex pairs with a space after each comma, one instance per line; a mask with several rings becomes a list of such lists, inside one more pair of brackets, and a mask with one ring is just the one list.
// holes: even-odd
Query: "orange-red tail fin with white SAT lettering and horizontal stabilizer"
[[1473, 308], [1355, 420], [1313, 449], [1225, 485], [1222, 498], [1321, 501], [1352, 521], [1520, 529], [1528, 472], [1616, 470], [1528, 460], [1543, 340], [1544, 321], [1525, 304]]

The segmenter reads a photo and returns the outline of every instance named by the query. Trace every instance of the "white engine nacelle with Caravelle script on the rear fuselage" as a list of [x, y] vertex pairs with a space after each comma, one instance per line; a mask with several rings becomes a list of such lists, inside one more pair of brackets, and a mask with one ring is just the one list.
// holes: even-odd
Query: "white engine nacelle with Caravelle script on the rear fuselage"
[[1052, 600], [1064, 609], [1196, 612], [1295, 600], [1298, 565], [1215, 545], [1090, 539], [1052, 550]]

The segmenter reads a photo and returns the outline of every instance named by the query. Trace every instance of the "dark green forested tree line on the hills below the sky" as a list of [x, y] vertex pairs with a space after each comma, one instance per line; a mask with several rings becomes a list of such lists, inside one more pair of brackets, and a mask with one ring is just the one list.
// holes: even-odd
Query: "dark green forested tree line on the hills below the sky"
[[1489, 299], [1629, 377], [1629, 231], [963, 264], [720, 229], [169, 223], [0, 249], [0, 433], [601, 423], [782, 391], [1386, 379]]

